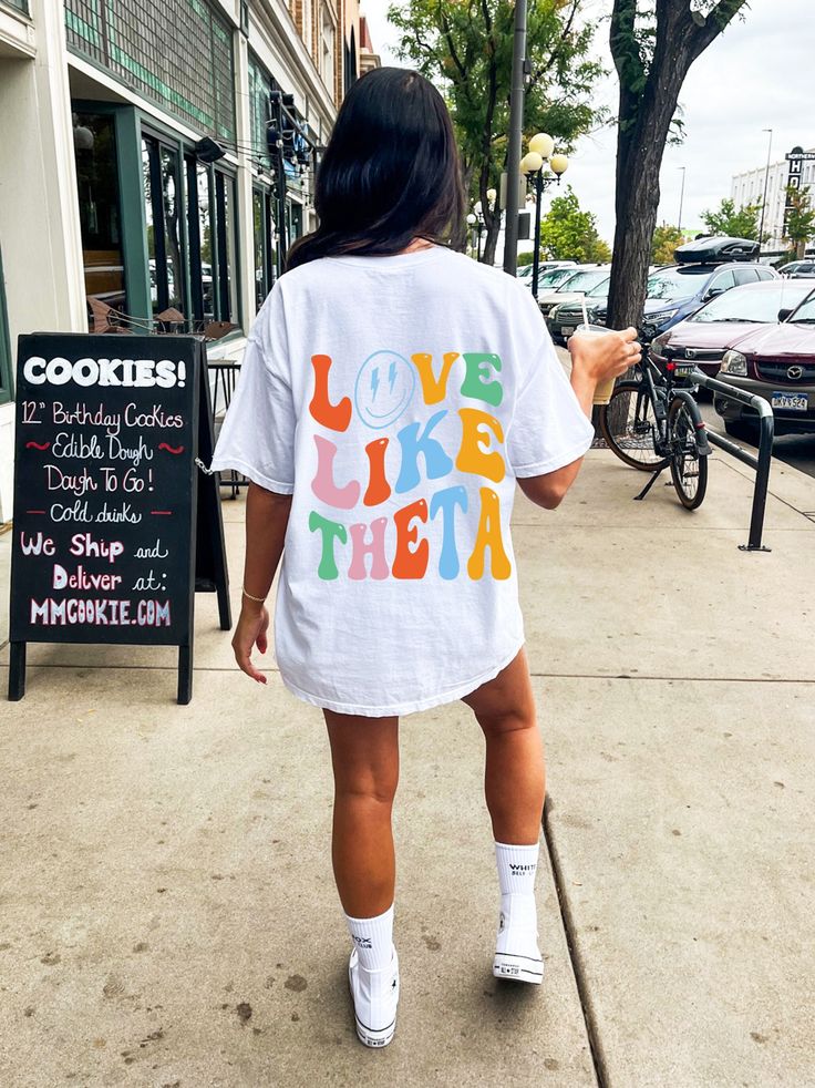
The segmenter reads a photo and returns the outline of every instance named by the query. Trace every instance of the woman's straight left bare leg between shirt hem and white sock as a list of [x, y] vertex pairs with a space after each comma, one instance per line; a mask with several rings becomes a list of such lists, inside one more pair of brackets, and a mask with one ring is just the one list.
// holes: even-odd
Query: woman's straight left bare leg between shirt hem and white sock
[[334, 772], [331, 856], [345, 914], [369, 918], [393, 904], [391, 811], [399, 782], [399, 718], [324, 710]]

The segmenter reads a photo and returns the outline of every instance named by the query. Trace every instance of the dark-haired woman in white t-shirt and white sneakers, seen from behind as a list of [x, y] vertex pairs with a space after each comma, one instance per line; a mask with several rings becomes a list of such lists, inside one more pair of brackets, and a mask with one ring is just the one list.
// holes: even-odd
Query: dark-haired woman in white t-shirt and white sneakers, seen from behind
[[320, 707], [332, 859], [352, 940], [359, 1038], [388, 1045], [399, 1002], [391, 809], [400, 715], [463, 699], [486, 738], [501, 910], [493, 971], [540, 983], [534, 884], [544, 807], [509, 514], [516, 481], [559, 504], [592, 439], [598, 381], [636, 332], [575, 338], [570, 382], [515, 279], [456, 250], [465, 222], [450, 115], [420, 74], [353, 84], [317, 176], [319, 228], [261, 307], [216, 469], [251, 481], [233, 646], [276, 655]]

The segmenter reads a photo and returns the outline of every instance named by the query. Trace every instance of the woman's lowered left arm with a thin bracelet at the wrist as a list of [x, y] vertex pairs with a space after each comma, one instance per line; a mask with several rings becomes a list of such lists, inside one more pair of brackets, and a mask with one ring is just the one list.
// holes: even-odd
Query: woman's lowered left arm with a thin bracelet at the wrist
[[[235, 660], [240, 669], [258, 684], [266, 677], [251, 663], [255, 646], [266, 653], [269, 612], [265, 605], [275, 572], [280, 563], [289, 524], [291, 495], [279, 495], [250, 483], [246, 495], [246, 560], [240, 616], [233, 636]], [[247, 594], [251, 594], [248, 597]], [[252, 598], [260, 599], [255, 601]]]

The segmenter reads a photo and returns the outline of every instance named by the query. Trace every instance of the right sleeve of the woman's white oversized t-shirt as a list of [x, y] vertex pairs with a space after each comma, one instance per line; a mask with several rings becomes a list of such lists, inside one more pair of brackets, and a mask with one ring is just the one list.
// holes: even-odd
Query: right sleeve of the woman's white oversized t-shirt
[[539, 476], [571, 464], [586, 453], [595, 437], [539, 310], [537, 317], [537, 346], [518, 386], [506, 437], [509, 464], [520, 478]]

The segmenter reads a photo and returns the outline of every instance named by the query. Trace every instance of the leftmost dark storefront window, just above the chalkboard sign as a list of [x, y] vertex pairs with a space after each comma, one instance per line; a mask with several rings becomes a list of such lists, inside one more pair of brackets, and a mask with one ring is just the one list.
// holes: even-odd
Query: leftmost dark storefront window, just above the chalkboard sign
[[114, 119], [73, 114], [85, 294], [127, 311]]

